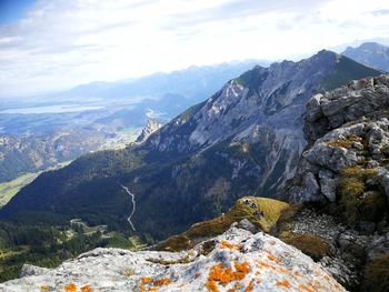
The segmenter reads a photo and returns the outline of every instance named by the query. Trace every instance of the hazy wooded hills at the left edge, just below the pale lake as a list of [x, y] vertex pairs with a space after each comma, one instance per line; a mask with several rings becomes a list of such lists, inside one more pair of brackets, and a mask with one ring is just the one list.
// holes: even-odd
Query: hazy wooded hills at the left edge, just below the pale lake
[[63, 129], [44, 135], [0, 137], [0, 182], [73, 160], [104, 144], [109, 134], [93, 129]]

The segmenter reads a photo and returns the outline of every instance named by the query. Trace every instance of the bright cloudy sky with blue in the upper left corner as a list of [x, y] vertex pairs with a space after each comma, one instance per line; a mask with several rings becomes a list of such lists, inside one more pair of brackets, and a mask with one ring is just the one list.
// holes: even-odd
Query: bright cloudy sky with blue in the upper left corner
[[388, 0], [0, 0], [0, 99], [380, 39]]

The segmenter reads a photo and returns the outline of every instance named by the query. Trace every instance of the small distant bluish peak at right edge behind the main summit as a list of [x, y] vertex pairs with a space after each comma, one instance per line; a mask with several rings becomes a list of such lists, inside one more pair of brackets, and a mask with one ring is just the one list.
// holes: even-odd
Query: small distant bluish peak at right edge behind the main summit
[[358, 48], [348, 47], [343, 56], [378, 70], [389, 72], [389, 48], [377, 42], [365, 42]]

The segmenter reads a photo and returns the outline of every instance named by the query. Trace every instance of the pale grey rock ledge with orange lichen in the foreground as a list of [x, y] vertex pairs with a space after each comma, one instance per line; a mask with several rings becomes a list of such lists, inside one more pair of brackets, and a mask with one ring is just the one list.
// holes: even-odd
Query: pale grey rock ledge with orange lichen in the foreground
[[346, 291], [299, 250], [233, 225], [187, 252], [96, 249], [21, 276], [0, 291]]

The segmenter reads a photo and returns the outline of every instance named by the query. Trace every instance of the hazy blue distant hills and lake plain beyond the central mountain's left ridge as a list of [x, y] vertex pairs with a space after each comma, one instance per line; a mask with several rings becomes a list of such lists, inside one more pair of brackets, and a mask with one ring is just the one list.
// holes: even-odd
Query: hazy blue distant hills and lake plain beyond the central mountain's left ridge
[[[0, 103], [0, 182], [104, 148], [108, 139], [113, 141], [127, 134], [122, 130], [143, 127], [149, 118], [167, 122], [257, 62], [191, 67], [133, 80], [94, 82], [24, 103]], [[79, 108], [84, 110], [71, 111]]]

